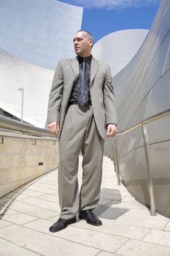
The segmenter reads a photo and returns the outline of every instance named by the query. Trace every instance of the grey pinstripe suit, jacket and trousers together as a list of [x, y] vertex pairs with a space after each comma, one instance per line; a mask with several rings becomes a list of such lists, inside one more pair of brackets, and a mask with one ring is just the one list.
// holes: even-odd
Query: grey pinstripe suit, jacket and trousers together
[[[50, 91], [47, 124], [60, 123], [58, 167], [61, 217], [71, 219], [79, 209], [95, 208], [99, 200], [102, 158], [107, 124], [116, 124], [115, 96], [107, 64], [91, 60], [90, 97], [92, 106], [69, 106], [79, 75], [77, 59], [58, 62]], [[82, 150], [82, 187], [78, 189], [78, 157]]]

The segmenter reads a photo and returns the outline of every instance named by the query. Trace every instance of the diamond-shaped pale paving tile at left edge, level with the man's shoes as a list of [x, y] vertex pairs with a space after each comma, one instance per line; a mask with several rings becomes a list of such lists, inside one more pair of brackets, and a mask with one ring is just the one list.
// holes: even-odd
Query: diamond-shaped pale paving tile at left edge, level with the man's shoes
[[23, 225], [23, 224], [31, 222], [37, 218], [31, 217], [28, 214], [14, 213], [14, 214], [4, 214], [2, 219], [7, 220], [8, 222], [18, 224], [18, 225]]

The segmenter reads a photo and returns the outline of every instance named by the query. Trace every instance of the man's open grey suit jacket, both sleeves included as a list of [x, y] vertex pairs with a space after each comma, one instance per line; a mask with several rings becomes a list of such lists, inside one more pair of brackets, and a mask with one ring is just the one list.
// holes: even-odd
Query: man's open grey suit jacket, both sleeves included
[[[80, 73], [77, 59], [64, 59], [58, 62], [50, 91], [47, 122], [60, 123], [60, 138], [63, 121], [69, 104], [72, 87]], [[106, 138], [107, 124], [116, 124], [115, 95], [109, 66], [94, 58], [91, 59], [90, 97], [93, 116], [101, 138]]]

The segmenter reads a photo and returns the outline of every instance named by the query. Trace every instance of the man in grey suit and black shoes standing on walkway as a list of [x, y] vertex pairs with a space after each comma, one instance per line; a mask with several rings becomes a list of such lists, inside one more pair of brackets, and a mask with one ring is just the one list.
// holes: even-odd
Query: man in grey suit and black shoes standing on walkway
[[[77, 31], [75, 59], [58, 62], [48, 104], [47, 127], [59, 138], [58, 195], [61, 217], [50, 232], [76, 222], [102, 225], [93, 209], [101, 188], [104, 139], [116, 135], [115, 97], [109, 67], [93, 58], [93, 36]], [[82, 151], [82, 187], [77, 172]]]

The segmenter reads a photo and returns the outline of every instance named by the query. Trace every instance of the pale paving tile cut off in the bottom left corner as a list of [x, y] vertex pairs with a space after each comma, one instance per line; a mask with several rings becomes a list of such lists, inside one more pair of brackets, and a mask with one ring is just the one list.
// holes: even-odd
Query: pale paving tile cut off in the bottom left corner
[[12, 244], [9, 241], [5, 241], [0, 238], [0, 255], [3, 256], [38, 256], [36, 252], [32, 252], [26, 248], [20, 247], [16, 244]]

